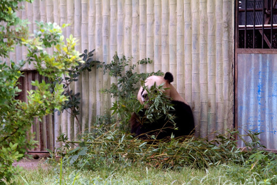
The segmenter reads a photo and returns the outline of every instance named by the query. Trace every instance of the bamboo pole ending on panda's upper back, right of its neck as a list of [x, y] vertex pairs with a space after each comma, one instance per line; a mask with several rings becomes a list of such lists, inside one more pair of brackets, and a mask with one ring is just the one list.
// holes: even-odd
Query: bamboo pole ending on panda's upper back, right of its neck
[[[184, 61], [185, 61], [185, 100], [191, 106], [192, 104], [192, 12], [191, 1], [184, 1]], [[197, 20], [195, 20], [197, 22]], [[183, 70], [183, 69], [182, 69]], [[196, 121], [196, 119], [195, 119]]]

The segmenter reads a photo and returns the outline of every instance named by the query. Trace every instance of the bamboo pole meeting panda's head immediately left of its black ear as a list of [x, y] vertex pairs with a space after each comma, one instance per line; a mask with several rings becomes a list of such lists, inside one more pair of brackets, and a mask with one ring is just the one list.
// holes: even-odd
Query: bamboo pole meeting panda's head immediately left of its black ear
[[154, 70], [162, 70], [162, 4], [155, 0], [154, 4]]

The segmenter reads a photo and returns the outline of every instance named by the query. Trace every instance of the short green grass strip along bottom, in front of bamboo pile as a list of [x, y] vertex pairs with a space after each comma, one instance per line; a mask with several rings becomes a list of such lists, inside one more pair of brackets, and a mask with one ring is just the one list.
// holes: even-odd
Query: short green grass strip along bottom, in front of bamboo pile
[[93, 171], [77, 171], [74, 168], [63, 168], [61, 171], [60, 166], [24, 170], [15, 184], [269, 184], [266, 179], [256, 179], [261, 179], [261, 175], [235, 164], [207, 169], [159, 169], [140, 164], [124, 168], [114, 164], [112, 168]]

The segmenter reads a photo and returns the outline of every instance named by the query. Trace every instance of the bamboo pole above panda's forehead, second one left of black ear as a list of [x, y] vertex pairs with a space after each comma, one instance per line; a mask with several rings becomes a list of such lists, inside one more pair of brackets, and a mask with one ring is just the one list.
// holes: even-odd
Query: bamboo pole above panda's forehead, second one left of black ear
[[[146, 3], [146, 57], [154, 60], [154, 1], [147, 1]], [[153, 72], [154, 64], [147, 64], [146, 71]]]

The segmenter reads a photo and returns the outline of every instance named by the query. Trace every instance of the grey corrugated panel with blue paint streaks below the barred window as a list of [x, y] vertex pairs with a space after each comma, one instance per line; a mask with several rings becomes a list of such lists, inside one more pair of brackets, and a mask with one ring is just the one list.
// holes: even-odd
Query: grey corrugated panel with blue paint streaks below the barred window
[[277, 54], [238, 54], [238, 128], [277, 150]]

